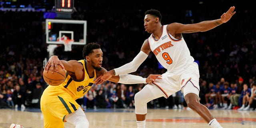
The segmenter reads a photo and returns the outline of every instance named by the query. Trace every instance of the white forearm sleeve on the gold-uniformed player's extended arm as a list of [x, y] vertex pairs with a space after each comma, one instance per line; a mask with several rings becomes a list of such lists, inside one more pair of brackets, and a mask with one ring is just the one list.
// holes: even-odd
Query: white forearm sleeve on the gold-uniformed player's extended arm
[[120, 78], [118, 83], [122, 83], [122, 84], [140, 84], [140, 83], [146, 84], [147, 83], [146, 78], [132, 75], [132, 74], [119, 75], [119, 77]]

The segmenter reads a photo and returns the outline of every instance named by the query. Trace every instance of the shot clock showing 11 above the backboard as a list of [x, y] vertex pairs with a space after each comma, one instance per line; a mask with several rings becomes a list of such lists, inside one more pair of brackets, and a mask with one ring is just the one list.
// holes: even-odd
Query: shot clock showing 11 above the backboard
[[73, 13], [74, 0], [55, 0], [55, 12]]

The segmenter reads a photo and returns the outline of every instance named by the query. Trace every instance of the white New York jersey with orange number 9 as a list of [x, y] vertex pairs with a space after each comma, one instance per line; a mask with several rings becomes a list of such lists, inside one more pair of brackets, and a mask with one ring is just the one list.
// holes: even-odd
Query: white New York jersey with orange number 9
[[178, 40], [170, 35], [167, 25], [162, 27], [162, 36], [159, 40], [156, 40], [153, 34], [148, 38], [148, 45], [151, 51], [155, 54], [158, 62], [168, 71], [184, 70], [194, 62], [185, 40], [183, 37]]

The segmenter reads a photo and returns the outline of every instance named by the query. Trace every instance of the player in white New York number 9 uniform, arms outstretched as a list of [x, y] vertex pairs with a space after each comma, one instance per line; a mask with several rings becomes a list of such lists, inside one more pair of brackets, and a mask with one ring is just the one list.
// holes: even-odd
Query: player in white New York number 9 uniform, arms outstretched
[[168, 96], [182, 90], [188, 107], [197, 112], [211, 128], [222, 128], [212, 116], [208, 108], [199, 102], [199, 69], [182, 33], [205, 32], [226, 23], [236, 13], [235, 7], [220, 16], [220, 19], [202, 21], [196, 24], [172, 23], [162, 26], [161, 14], [158, 10], [147, 10], [144, 17], [144, 27], [150, 37], [144, 41], [140, 52], [132, 60], [119, 68], [105, 72], [101, 80], [135, 72], [152, 51], [158, 62], [167, 69], [162, 79], [147, 84], [135, 95], [135, 113], [138, 128], [146, 127], [147, 102]]

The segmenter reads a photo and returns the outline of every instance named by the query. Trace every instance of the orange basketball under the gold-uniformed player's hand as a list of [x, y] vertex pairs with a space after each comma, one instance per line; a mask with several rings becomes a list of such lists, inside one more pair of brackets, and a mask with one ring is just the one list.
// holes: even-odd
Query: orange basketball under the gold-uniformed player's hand
[[54, 72], [52, 73], [52, 67], [50, 66], [48, 73], [44, 70], [43, 77], [47, 84], [58, 86], [66, 79], [66, 71], [58, 65], [58, 72], [56, 72], [56, 68], [54, 67]]

